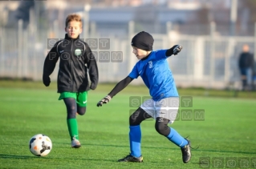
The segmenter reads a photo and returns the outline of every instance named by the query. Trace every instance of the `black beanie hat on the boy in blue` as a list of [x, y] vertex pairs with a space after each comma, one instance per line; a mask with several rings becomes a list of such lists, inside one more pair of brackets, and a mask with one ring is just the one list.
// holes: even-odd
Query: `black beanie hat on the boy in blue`
[[152, 35], [142, 31], [132, 38], [131, 45], [141, 50], [150, 51], [152, 50], [153, 43], [154, 39], [152, 38]]

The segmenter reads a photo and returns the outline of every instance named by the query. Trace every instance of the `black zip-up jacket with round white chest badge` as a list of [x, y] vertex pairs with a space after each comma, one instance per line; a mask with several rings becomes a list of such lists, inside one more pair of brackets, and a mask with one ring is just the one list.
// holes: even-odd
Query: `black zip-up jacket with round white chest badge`
[[58, 60], [58, 93], [83, 92], [97, 87], [99, 72], [95, 57], [79, 37], [69, 38], [66, 34], [64, 39], [55, 43], [45, 58], [43, 76], [50, 76]]

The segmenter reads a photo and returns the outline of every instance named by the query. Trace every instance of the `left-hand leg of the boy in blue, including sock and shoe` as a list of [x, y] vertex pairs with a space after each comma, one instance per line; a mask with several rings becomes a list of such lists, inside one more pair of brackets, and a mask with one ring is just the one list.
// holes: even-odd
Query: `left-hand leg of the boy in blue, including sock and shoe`
[[142, 162], [143, 158], [140, 150], [140, 142], [141, 142], [141, 130], [140, 123], [144, 121], [144, 119], [152, 118], [152, 116], [148, 115], [142, 108], [138, 108], [129, 118], [130, 131], [129, 131], [129, 139], [130, 139], [130, 155], [124, 157], [124, 159], [119, 159], [119, 162]]

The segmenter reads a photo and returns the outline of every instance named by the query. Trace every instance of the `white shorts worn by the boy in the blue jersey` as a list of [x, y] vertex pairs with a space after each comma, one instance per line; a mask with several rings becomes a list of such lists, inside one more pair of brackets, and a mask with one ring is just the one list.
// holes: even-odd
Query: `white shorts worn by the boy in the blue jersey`
[[180, 98], [170, 97], [159, 101], [148, 99], [141, 104], [140, 108], [146, 111], [148, 115], [152, 116], [153, 119], [161, 117], [169, 119], [169, 123], [173, 123], [179, 111], [179, 106]]

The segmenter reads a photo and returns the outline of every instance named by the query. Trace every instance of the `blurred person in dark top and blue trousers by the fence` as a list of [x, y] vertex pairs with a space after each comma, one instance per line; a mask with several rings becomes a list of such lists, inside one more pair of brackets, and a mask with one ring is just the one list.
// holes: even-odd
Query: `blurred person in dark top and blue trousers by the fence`
[[250, 53], [247, 44], [242, 46], [242, 53], [239, 55], [238, 66], [242, 80], [242, 91], [252, 89], [252, 79], [254, 73], [254, 55]]

